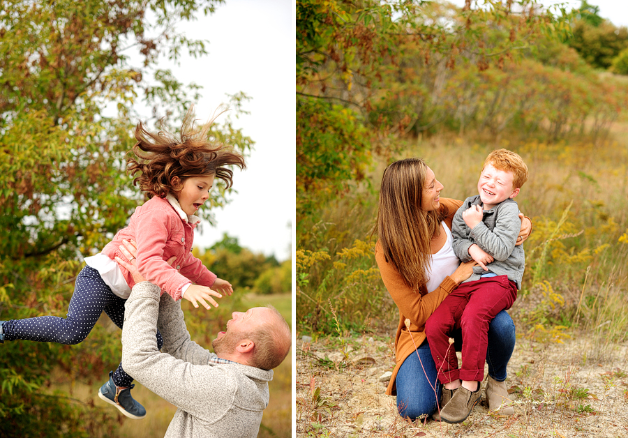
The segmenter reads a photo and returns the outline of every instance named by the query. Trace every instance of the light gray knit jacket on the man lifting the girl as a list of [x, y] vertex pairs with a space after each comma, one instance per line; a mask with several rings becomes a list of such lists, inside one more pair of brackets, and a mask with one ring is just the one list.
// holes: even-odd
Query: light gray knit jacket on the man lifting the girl
[[160, 288], [151, 282], [133, 287], [124, 314], [122, 366], [179, 408], [165, 437], [257, 437], [273, 371], [219, 361], [224, 360], [190, 340], [181, 301], [160, 297]]

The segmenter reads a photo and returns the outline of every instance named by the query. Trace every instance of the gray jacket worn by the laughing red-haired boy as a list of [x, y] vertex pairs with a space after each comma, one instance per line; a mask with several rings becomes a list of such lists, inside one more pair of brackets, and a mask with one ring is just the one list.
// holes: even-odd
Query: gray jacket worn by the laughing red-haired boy
[[[462, 213], [472, 205], [481, 205], [479, 195], [468, 197], [454, 215], [451, 234], [454, 236], [454, 252], [461, 262], [469, 262], [469, 247], [474, 243], [493, 256], [493, 263], [486, 265], [488, 271], [497, 275], [508, 275], [521, 289], [525, 254], [523, 245], [515, 246], [521, 230], [519, 208], [514, 199], [506, 199], [491, 210], [484, 211], [482, 222], [470, 229], [462, 218]], [[481, 266], [475, 266], [473, 273], [464, 282], [479, 280], [486, 273]]]

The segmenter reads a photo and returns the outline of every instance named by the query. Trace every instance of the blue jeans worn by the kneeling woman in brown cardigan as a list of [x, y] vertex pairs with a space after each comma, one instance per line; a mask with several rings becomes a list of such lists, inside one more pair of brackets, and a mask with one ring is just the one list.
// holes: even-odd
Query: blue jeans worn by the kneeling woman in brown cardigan
[[[486, 351], [488, 375], [498, 382], [506, 380], [506, 367], [514, 350], [515, 341], [514, 322], [510, 315], [502, 310], [488, 324]], [[396, 377], [397, 410], [399, 415], [412, 420], [422, 415], [433, 414], [436, 411], [437, 397], [440, 400], [442, 391], [427, 341], [419, 346], [417, 353], [418, 356], [413, 352], [403, 361]]]

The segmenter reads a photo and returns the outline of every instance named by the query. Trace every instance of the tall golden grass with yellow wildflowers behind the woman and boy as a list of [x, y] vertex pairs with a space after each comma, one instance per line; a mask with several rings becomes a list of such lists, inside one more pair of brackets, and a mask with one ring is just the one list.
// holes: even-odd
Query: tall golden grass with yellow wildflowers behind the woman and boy
[[[523, 319], [533, 326], [595, 329], [618, 322], [613, 340], [628, 329], [623, 297], [628, 287], [628, 141], [625, 123], [604, 138], [546, 142], [533, 137], [458, 137], [444, 133], [404, 139], [396, 156], [377, 157], [369, 175], [373, 190], [356, 188], [324, 205], [301, 225], [297, 246], [297, 331], [335, 333], [386, 326], [394, 314], [373, 259], [377, 236], [377, 188], [387, 163], [420, 157], [444, 185], [442, 197], [477, 192], [477, 176], [493, 149], [518, 152], [530, 178], [516, 197], [534, 229], [525, 243], [520, 299], [539, 299]], [[328, 301], [329, 299], [329, 301]], [[392, 313], [391, 313], [392, 312]], [[522, 322], [523, 322], [522, 319]]]

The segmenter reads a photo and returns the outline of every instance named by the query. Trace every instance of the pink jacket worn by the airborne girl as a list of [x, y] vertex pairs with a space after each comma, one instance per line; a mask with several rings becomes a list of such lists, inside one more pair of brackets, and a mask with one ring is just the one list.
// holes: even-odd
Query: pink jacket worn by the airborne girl
[[[128, 227], [117, 232], [102, 253], [112, 260], [116, 256], [125, 259], [119, 249], [122, 239], [135, 240], [137, 269], [149, 282], [160, 287], [162, 294], [167, 292], [172, 299], [179, 300], [182, 286], [193, 282], [211, 287], [216, 281], [216, 274], [190, 252], [194, 229], [199, 222], [196, 216], [187, 216], [174, 197], [153, 197], [135, 209]], [[170, 266], [166, 260], [173, 255], [177, 259], [174, 266]], [[133, 288], [133, 276], [123, 266], [118, 266], [128, 287]]]

